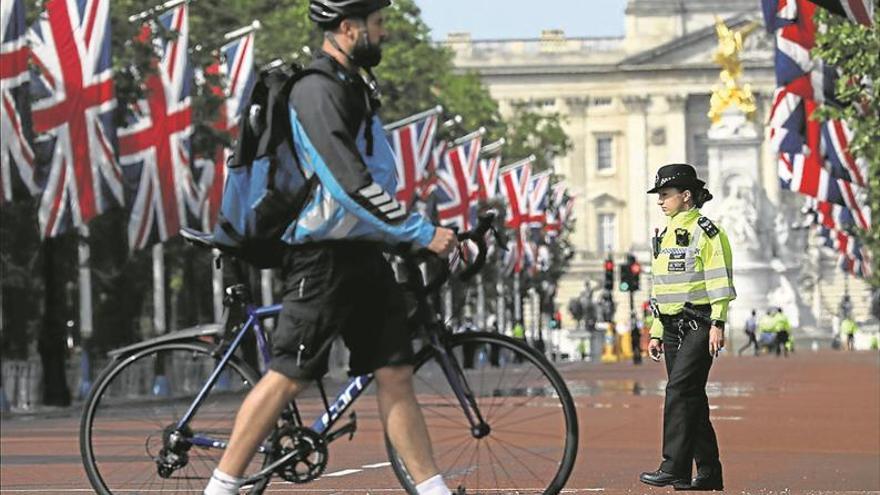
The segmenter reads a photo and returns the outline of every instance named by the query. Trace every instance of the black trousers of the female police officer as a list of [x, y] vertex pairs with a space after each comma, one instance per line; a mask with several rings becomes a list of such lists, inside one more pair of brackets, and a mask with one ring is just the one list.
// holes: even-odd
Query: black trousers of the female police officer
[[711, 474], [721, 467], [718, 440], [709, 421], [706, 381], [712, 367], [709, 327], [696, 329], [682, 319], [663, 319], [666, 402], [663, 411], [663, 462], [660, 469], [690, 478], [691, 466]]

